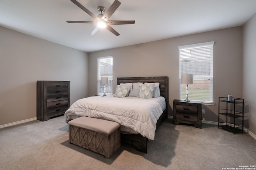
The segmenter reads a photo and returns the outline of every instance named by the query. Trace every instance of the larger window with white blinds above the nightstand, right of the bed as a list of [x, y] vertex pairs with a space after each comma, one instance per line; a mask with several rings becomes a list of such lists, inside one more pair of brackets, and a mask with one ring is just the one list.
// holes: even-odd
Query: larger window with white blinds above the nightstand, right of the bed
[[[188, 85], [188, 98], [213, 103], [213, 44], [199, 43], [179, 47], [181, 74], [193, 74], [194, 84]], [[180, 100], [186, 99], [186, 84], [180, 84]]]

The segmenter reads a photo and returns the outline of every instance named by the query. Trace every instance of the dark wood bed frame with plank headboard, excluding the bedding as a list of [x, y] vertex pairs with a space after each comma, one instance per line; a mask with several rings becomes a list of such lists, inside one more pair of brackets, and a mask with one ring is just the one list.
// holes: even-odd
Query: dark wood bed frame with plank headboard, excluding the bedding
[[[168, 93], [168, 77], [167, 76], [160, 76], [160, 77], [118, 77], [117, 78], [117, 84], [120, 83], [136, 83], [136, 82], [148, 82], [148, 83], [154, 83], [159, 82], [160, 84], [160, 94], [163, 96], [166, 100], [166, 109], [162, 113], [162, 115], [159, 117], [157, 123], [156, 123], [156, 129], [159, 127], [159, 125], [164, 121], [164, 119], [167, 118], [167, 106], [168, 106], [168, 99], [169, 99], [169, 93]], [[147, 153], [147, 143], [148, 139], [146, 137], [143, 137], [140, 134], [121, 134], [121, 143], [126, 143], [129, 145], [134, 146], [134, 148], [140, 152]]]

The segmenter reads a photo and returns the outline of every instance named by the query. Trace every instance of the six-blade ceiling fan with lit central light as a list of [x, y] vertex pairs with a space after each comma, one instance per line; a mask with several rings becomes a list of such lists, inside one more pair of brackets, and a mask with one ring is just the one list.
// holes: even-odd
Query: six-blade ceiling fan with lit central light
[[118, 0], [115, 0], [106, 12], [105, 12], [105, 8], [103, 6], [98, 6], [98, 11], [100, 12], [100, 14], [98, 16], [96, 16], [92, 12], [90, 12], [87, 8], [82, 6], [82, 4], [80, 4], [78, 1], [71, 0], [71, 2], [76, 4], [76, 6], [78, 6], [84, 12], [86, 12], [89, 16], [94, 18], [94, 21], [67, 21], [67, 22], [68, 23], [97, 23], [97, 26], [92, 30], [90, 35], [94, 35], [98, 31], [98, 29], [105, 27], [110, 32], [112, 32], [114, 35], [118, 36], [120, 34], [116, 30], [114, 30], [110, 25], [134, 24], [135, 23], [135, 21], [108, 20], [112, 16], [112, 14], [116, 11], [116, 9], [120, 6], [121, 2], [119, 2]]

